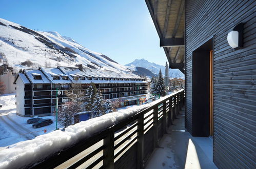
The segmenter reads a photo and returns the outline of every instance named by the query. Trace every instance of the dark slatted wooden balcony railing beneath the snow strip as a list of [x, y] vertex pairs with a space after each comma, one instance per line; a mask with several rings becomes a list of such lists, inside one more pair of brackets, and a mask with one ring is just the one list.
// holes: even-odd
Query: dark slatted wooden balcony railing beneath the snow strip
[[143, 168], [184, 105], [184, 96], [181, 90], [156, 100], [143, 111], [29, 167]]

